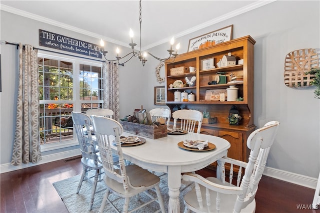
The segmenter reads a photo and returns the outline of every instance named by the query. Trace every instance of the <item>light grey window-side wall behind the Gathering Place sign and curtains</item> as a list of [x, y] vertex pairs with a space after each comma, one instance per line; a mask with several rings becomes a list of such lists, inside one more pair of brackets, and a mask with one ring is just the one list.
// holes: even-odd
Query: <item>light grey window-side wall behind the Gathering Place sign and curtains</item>
[[[1, 34], [0, 39], [12, 43], [31, 44], [34, 47], [42, 48], [38, 45], [38, 30], [45, 29], [47, 31], [84, 40], [91, 43], [99, 44], [100, 38], [93, 38], [76, 32], [52, 26], [46, 23], [28, 19], [9, 12], [1, 10]], [[114, 49], [115, 45], [111, 43], [105, 44], [108, 49]], [[42, 48], [45, 49], [45, 48]], [[52, 50], [52, 49], [49, 49]], [[127, 47], [121, 47], [122, 51], [130, 51]], [[53, 50], [55, 51], [55, 50]], [[109, 58], [114, 55], [109, 51]], [[48, 52], [45, 52], [48, 54]], [[67, 53], [67, 52], [64, 52]], [[102, 60], [102, 59], [101, 59]], [[16, 110], [16, 85], [17, 85], [17, 49], [14, 45], [1, 45], [1, 82], [2, 92], [0, 96], [0, 165], [8, 164], [11, 161], [11, 153], [14, 139], [15, 129], [15, 110]], [[120, 84], [120, 117], [132, 114], [133, 107], [139, 108], [142, 103], [143, 96], [140, 93], [141, 82], [144, 80], [139, 76], [142, 70], [137, 60], [131, 60], [124, 67], [119, 66], [119, 84]], [[42, 152], [42, 159], [45, 156], [58, 155], [58, 153], [72, 153], [72, 150], [78, 150], [77, 146], [60, 149], [57, 151]], [[13, 167], [11, 167], [13, 169]], [[10, 169], [11, 169], [10, 168]]]

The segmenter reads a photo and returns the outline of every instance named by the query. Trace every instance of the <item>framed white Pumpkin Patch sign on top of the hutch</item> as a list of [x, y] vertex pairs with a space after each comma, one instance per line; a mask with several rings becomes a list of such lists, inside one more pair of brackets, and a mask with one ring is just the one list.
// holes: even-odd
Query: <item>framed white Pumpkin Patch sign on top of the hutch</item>
[[191, 38], [189, 40], [188, 52], [231, 40], [232, 28], [233, 24], [195, 38]]

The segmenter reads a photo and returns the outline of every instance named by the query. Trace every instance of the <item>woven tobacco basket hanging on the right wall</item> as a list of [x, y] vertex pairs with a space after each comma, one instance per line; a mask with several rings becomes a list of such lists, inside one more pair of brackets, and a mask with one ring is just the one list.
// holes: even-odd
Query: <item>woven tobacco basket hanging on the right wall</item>
[[299, 49], [289, 52], [284, 61], [284, 84], [288, 87], [312, 86], [314, 75], [307, 74], [312, 68], [319, 67], [315, 49]]

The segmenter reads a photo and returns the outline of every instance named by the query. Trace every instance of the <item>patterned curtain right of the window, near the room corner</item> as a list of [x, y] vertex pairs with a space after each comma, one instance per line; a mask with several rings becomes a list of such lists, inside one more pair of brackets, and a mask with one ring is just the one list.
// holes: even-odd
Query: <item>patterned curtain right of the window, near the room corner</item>
[[119, 121], [119, 72], [118, 63], [103, 63], [103, 108], [113, 111], [113, 119]]

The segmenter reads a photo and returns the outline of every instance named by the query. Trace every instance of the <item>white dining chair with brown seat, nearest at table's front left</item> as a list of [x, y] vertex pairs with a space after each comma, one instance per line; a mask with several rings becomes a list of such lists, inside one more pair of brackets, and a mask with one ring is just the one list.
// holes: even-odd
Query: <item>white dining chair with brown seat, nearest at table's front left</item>
[[[123, 132], [121, 124], [113, 119], [105, 117], [92, 117], [92, 120], [105, 174], [103, 181], [107, 188], [99, 213], [103, 212], [106, 202], [108, 202], [116, 212], [119, 212], [119, 210], [112, 205], [112, 202], [114, 201], [108, 199], [109, 192], [120, 198], [124, 198], [121, 211], [123, 213], [133, 212], [152, 202], [157, 202], [159, 204], [160, 210], [157, 212], [164, 213], [165, 210], [159, 188], [160, 179], [156, 175], [153, 175], [137, 165], [124, 164], [120, 144], [120, 135]], [[120, 164], [119, 169], [114, 169], [113, 167], [112, 146], [116, 146], [116, 153]], [[147, 192], [148, 190], [155, 190], [156, 196], [153, 197]], [[133, 210], [129, 210], [128, 205], [130, 198], [140, 193], [145, 193], [151, 200], [141, 204], [141, 206]]]

